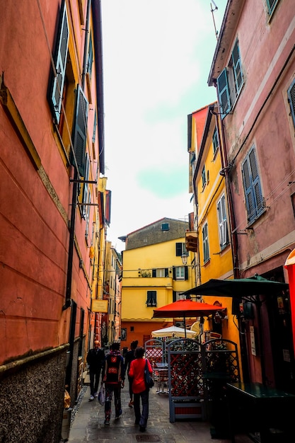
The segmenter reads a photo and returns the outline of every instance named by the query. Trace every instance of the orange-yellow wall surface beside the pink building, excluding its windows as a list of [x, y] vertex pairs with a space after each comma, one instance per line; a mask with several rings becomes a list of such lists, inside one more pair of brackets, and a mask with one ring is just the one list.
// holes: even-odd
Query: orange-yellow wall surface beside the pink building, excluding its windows
[[[209, 117], [210, 118], [210, 117]], [[212, 117], [209, 130], [207, 132], [206, 139], [202, 140], [204, 144], [204, 150], [199, 153], [199, 159], [197, 158], [199, 168], [195, 171], [195, 189], [197, 190], [196, 201], [198, 203], [197, 213], [197, 232], [199, 238], [199, 277], [200, 283], [207, 282], [214, 279], [226, 279], [233, 278], [233, 260], [231, 253], [231, 243], [226, 248], [221, 250], [219, 243], [219, 219], [217, 212], [217, 202], [221, 195], [225, 195], [226, 198], [226, 184], [224, 176], [221, 176], [219, 172], [222, 169], [220, 148], [217, 149], [215, 156], [213, 151], [212, 137], [214, 128], [216, 125], [215, 118]], [[203, 132], [202, 132], [203, 135]], [[202, 185], [202, 168], [205, 166], [206, 170], [206, 185]], [[227, 209], [227, 202], [226, 202]], [[209, 260], [204, 263], [203, 253], [203, 236], [202, 228], [204, 223], [208, 224], [209, 235]], [[229, 229], [229, 214], [227, 214], [227, 222]], [[229, 232], [229, 239], [231, 238]], [[231, 297], [202, 297], [206, 303], [214, 304], [219, 301], [221, 306], [226, 308], [227, 317], [221, 321], [222, 324], [222, 337], [228, 340], [232, 340], [235, 343], [239, 343], [239, 333], [234, 323], [234, 318], [231, 315]], [[237, 321], [236, 321], [237, 323]], [[214, 328], [214, 320], [205, 321], [204, 331], [212, 330]], [[241, 361], [241, 359], [240, 359]]]

